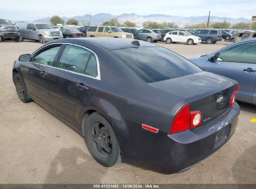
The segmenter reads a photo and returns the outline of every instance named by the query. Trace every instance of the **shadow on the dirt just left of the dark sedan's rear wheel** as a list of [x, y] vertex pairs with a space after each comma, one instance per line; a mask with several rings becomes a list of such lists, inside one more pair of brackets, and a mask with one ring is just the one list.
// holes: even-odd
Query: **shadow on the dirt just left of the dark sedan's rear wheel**
[[64, 147], [52, 160], [43, 188], [49, 188], [48, 184], [101, 183], [106, 172], [107, 168], [84, 150]]

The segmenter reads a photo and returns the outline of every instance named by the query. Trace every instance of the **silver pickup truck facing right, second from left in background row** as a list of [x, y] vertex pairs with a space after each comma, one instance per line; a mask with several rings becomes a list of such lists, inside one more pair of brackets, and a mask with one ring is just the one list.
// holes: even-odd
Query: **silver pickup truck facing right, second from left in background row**
[[63, 38], [59, 29], [54, 29], [50, 24], [17, 23], [23, 39], [40, 41], [41, 44], [50, 40]]

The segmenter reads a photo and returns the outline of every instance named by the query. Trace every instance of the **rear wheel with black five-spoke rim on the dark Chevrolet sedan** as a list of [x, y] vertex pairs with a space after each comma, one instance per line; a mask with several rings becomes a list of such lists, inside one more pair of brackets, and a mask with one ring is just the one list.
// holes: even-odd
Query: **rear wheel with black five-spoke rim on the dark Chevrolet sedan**
[[120, 147], [110, 123], [101, 114], [91, 114], [85, 124], [85, 143], [93, 158], [105, 167], [121, 161]]

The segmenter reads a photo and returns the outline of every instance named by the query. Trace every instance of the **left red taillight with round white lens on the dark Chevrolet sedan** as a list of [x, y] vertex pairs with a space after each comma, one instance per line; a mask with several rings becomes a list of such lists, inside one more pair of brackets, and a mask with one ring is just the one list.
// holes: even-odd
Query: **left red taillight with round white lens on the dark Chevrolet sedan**
[[201, 111], [190, 111], [189, 104], [183, 106], [176, 114], [170, 133], [183, 132], [202, 124]]

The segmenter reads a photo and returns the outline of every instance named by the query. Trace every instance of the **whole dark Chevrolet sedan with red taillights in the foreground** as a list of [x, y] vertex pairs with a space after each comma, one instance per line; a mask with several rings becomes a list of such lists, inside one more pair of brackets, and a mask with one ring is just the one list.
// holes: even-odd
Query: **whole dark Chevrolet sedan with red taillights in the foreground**
[[186, 170], [230, 139], [240, 111], [236, 81], [138, 40], [53, 40], [21, 55], [12, 76], [22, 102], [75, 129], [106, 167]]

